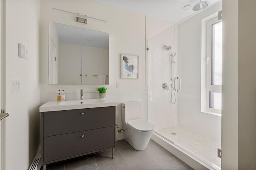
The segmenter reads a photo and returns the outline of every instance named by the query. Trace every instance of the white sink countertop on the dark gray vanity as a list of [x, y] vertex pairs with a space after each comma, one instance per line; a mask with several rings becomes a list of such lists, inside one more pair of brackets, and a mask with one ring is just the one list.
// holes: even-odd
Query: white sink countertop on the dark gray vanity
[[50, 101], [40, 106], [39, 111], [46, 112], [46, 111], [86, 109], [86, 108], [95, 108], [95, 107], [109, 107], [109, 106], [116, 106], [116, 105], [117, 105], [117, 102], [112, 99], [67, 100], [63, 102]]

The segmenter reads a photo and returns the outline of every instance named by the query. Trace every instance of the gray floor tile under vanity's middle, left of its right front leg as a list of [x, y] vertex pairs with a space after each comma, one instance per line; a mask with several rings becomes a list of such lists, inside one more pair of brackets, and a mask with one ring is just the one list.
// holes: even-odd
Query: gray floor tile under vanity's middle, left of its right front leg
[[65, 170], [97, 170], [94, 155], [66, 160]]

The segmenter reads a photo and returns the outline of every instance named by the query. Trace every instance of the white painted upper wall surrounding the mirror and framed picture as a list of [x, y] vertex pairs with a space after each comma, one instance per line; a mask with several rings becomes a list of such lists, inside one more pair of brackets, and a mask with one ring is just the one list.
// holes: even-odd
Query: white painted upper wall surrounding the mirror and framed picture
[[[73, 16], [55, 12], [52, 7], [86, 14], [108, 23], [88, 20], [88, 24], [77, 23]], [[118, 15], [117, 15], [118, 14]], [[145, 16], [134, 14], [118, 8], [106, 6], [92, 0], [43, 0], [41, 1], [41, 59], [40, 82], [41, 93], [57, 93], [64, 89], [67, 93], [95, 92], [94, 85], [48, 85], [48, 22], [63, 23], [67, 25], [94, 29], [110, 33], [109, 43], [109, 85], [108, 91], [144, 91], [145, 90]], [[120, 79], [120, 55], [131, 54], [139, 56], [139, 79]], [[116, 82], [120, 88], [116, 88]]]

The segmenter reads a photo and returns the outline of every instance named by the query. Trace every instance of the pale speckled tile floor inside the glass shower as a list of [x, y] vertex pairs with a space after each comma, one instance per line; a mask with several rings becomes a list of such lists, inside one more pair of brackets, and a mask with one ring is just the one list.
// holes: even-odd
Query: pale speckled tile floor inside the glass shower
[[[174, 130], [176, 135], [171, 134]], [[156, 132], [184, 147], [192, 154], [221, 167], [221, 159], [217, 156], [217, 148], [221, 148], [221, 144], [213, 139], [179, 126], [158, 129]]]

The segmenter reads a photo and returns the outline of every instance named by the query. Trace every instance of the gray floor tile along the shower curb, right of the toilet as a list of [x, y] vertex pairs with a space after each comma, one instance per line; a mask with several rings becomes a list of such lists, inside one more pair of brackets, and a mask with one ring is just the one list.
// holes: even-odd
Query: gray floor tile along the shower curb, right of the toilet
[[185, 164], [185, 162], [152, 140], [149, 141], [145, 151], [148, 155], [152, 156], [164, 170], [172, 170]]

